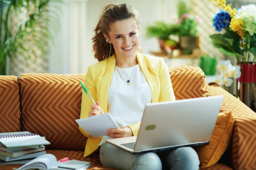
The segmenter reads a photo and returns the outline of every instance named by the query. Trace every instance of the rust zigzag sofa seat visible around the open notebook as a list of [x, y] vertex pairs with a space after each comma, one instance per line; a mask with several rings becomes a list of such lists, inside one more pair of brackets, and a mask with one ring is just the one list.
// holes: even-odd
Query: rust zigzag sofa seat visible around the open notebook
[[[67, 150], [46, 150], [47, 153], [50, 153], [56, 156], [57, 160], [68, 157], [69, 160], [76, 159], [80, 161], [90, 162], [90, 167], [87, 170], [114, 170], [107, 167], [102, 167], [99, 161], [98, 156], [90, 155], [84, 158], [83, 151], [67, 151]], [[12, 168], [18, 168], [22, 165], [0, 165], [0, 170], [12, 170]]]

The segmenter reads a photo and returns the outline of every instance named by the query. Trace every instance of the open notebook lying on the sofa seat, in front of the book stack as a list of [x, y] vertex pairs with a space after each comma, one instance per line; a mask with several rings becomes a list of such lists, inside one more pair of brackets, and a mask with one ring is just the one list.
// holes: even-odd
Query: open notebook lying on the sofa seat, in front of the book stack
[[57, 161], [56, 157], [52, 154], [45, 154], [24, 164], [17, 170], [86, 170], [90, 167], [90, 162], [70, 160], [66, 162]]

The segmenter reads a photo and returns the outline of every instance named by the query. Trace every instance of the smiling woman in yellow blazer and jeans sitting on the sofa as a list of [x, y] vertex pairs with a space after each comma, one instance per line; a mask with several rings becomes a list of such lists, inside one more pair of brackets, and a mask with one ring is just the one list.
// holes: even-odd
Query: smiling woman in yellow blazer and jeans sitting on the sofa
[[[93, 49], [98, 63], [88, 67], [84, 85], [96, 100], [83, 92], [80, 118], [109, 112], [120, 125], [105, 137], [88, 137], [84, 156], [99, 150], [105, 167], [119, 170], [198, 170], [198, 155], [191, 147], [160, 153], [131, 154], [106, 139], [137, 136], [146, 103], [175, 100], [168, 67], [163, 58], [140, 53], [139, 14], [127, 4], [108, 5], [95, 28]], [[157, 113], [156, 113], [157, 114]]]

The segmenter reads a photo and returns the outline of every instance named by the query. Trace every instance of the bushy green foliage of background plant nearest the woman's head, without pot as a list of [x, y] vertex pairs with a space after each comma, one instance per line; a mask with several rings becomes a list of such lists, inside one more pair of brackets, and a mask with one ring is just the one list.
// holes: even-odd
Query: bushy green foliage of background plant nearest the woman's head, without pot
[[179, 34], [180, 27], [177, 24], [167, 24], [163, 21], [157, 21], [146, 28], [147, 37], [157, 37], [161, 40], [169, 40], [170, 35]]

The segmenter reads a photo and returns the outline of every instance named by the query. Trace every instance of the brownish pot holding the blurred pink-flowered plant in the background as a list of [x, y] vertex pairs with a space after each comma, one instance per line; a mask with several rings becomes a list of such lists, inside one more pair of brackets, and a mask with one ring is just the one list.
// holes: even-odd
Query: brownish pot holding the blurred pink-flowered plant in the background
[[180, 36], [179, 41], [183, 54], [192, 54], [193, 49], [199, 48], [199, 37]]

